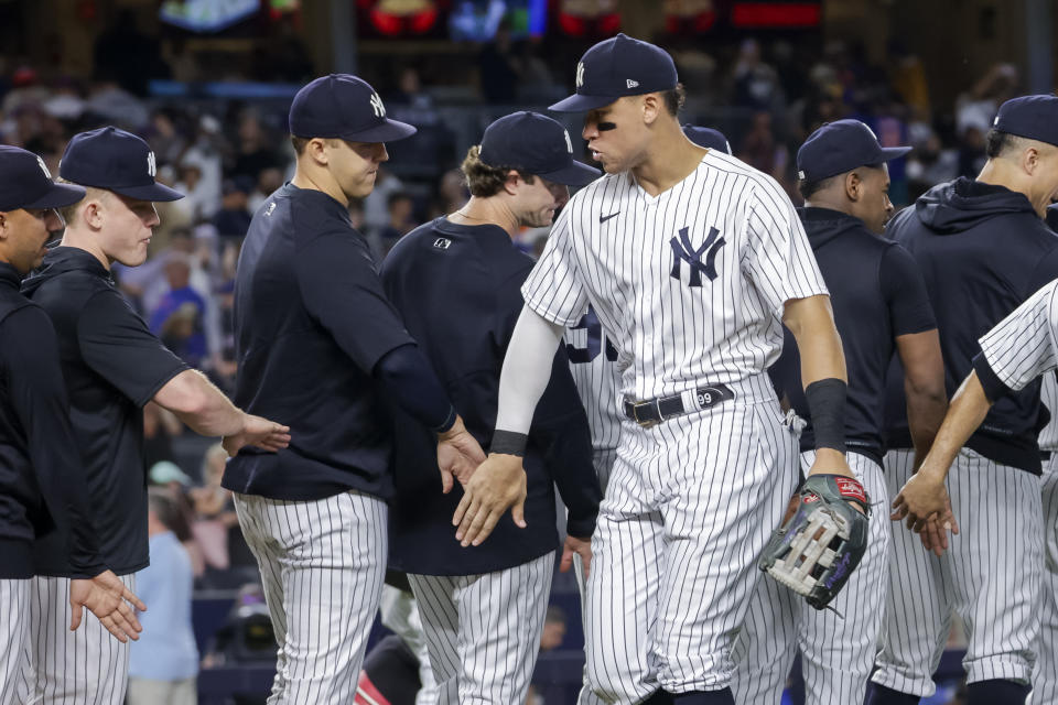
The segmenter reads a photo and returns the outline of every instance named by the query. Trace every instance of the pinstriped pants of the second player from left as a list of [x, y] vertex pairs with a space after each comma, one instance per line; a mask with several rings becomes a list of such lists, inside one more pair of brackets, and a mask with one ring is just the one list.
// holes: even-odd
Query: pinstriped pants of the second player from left
[[[136, 592], [136, 575], [121, 582]], [[34, 577], [30, 588], [30, 641], [23, 663], [33, 705], [120, 705], [129, 682], [129, 647], [83, 611], [69, 630], [69, 579]]]

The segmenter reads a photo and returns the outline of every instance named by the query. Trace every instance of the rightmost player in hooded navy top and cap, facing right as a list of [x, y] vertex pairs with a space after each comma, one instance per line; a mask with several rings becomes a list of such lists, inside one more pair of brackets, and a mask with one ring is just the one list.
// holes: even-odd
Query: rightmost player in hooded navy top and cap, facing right
[[[931, 188], [888, 226], [926, 279], [949, 393], [974, 369], [979, 338], [1058, 276], [1058, 238], [1041, 220], [1058, 191], [1055, 126], [1054, 96], [1004, 102], [978, 178]], [[968, 631], [968, 702], [1021, 703], [1028, 691], [1043, 565], [1039, 382], [990, 399], [995, 404], [980, 429], [954, 446], [941, 431], [932, 460], [914, 477], [910, 452], [890, 451], [886, 458], [886, 479], [898, 502], [900, 496], [915, 497], [902, 486], [935, 482], [953, 459], [948, 487], [954, 513], [929, 522], [937, 535], [927, 533], [926, 545], [940, 555], [929, 555], [917, 541], [893, 544], [887, 628], [872, 703], [917, 703], [932, 694], [931, 674], [952, 612]], [[949, 415], [954, 413], [953, 406]], [[914, 503], [909, 509], [929, 516]], [[948, 552], [942, 552], [944, 522], [960, 531]], [[905, 533], [896, 524], [893, 530]]]

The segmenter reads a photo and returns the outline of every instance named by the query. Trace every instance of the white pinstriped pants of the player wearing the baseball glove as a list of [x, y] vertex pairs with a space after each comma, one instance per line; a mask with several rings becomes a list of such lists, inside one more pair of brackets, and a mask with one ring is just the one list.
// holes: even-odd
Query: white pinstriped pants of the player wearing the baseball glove
[[650, 429], [627, 422], [592, 538], [587, 679], [606, 702], [726, 687], [797, 481], [797, 442], [766, 377]]

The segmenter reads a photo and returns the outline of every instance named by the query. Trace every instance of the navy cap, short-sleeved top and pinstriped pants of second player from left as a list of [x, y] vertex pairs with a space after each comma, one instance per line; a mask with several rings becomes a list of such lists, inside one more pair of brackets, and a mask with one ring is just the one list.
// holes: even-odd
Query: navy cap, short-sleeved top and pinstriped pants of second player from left
[[[152, 152], [140, 138], [102, 128], [74, 137], [60, 175], [128, 198], [175, 200], [182, 194], [154, 182]], [[112, 226], [111, 226], [112, 227]], [[68, 230], [67, 230], [68, 231]], [[122, 297], [97, 254], [56, 247], [22, 284], [47, 313], [58, 337], [74, 437], [84, 457], [93, 528], [102, 561], [134, 590], [148, 564], [143, 405], [187, 366], [151, 334]], [[34, 547], [36, 576], [30, 615], [32, 644], [24, 670], [30, 703], [121, 703], [129, 644], [96, 620], [71, 632], [71, 577], [65, 532]], [[72, 668], [76, 663], [77, 668]]]

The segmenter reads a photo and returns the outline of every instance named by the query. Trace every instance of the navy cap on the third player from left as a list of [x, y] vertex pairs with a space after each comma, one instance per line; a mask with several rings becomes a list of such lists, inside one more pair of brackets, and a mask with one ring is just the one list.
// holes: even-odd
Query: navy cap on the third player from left
[[392, 142], [415, 128], [386, 117], [371, 86], [349, 74], [321, 76], [304, 86], [290, 106], [290, 133], [348, 142]]

